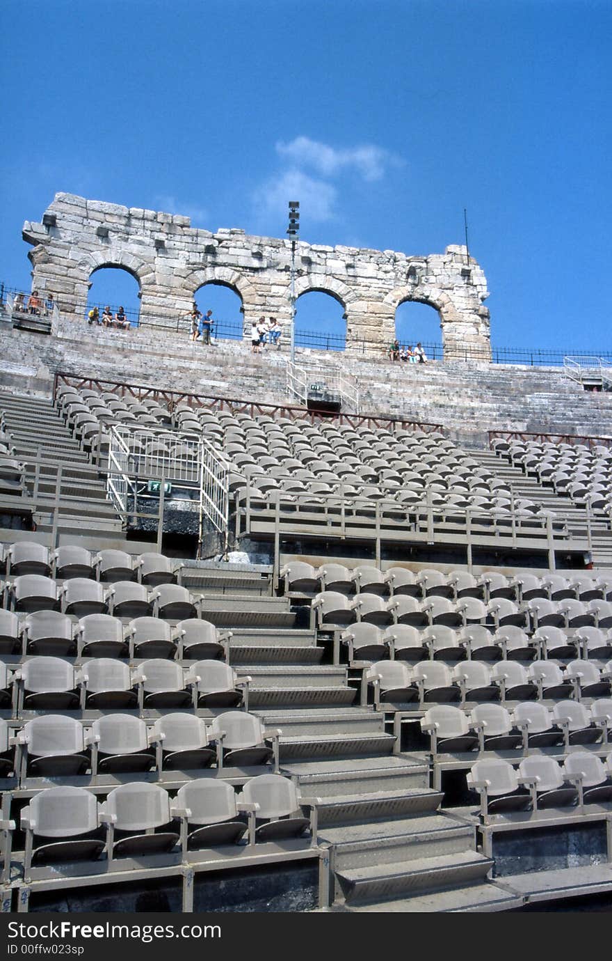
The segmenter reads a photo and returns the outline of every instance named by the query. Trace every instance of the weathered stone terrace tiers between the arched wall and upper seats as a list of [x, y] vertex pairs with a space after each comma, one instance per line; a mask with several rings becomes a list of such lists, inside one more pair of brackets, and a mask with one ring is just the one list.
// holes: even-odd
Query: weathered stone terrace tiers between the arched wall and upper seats
[[[52, 336], [0, 328], [0, 382], [49, 396], [64, 371], [84, 377], [215, 397], [286, 403], [286, 342], [253, 356], [247, 341], [207, 348], [184, 333], [92, 329], [59, 320]], [[354, 354], [297, 350], [296, 361], [338, 362], [360, 384], [363, 413], [438, 423], [467, 446], [484, 446], [487, 430], [612, 434], [612, 394], [589, 393], [559, 368], [483, 363], [391, 363]]]

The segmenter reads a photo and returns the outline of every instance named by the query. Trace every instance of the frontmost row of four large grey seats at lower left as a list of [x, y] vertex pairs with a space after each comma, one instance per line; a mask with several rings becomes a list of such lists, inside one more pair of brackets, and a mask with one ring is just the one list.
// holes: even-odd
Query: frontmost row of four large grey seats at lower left
[[[82, 862], [81, 872], [99, 873], [100, 860], [111, 869], [117, 859], [216, 849], [219, 845], [255, 845], [307, 836], [317, 844], [316, 815], [304, 818], [302, 799], [292, 781], [279, 775], [251, 777], [236, 794], [219, 780], [194, 780], [175, 797], [156, 784], [127, 783], [109, 791], [99, 803], [81, 787], [42, 791], [21, 811], [25, 850], [19, 867], [26, 879], [34, 868]], [[16, 849], [9, 826], [5, 859]], [[245, 835], [247, 838], [245, 839]], [[125, 862], [124, 862], [125, 863]]]

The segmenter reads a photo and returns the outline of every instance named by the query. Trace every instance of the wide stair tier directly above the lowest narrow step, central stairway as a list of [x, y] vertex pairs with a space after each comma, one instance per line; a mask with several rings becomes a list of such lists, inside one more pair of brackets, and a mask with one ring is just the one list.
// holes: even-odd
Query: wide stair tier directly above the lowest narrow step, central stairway
[[326, 826], [319, 837], [334, 846], [337, 872], [459, 854], [476, 847], [474, 827], [445, 814]]

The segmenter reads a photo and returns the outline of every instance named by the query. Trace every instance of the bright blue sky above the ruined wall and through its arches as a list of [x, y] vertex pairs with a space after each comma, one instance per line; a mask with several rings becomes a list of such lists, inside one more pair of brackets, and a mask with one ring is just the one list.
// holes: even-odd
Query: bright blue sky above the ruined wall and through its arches
[[[297, 199], [304, 240], [420, 255], [467, 208], [495, 345], [611, 348], [609, 0], [3, 0], [0, 27], [5, 283], [59, 190], [278, 236]], [[135, 302], [121, 272], [94, 290]]]

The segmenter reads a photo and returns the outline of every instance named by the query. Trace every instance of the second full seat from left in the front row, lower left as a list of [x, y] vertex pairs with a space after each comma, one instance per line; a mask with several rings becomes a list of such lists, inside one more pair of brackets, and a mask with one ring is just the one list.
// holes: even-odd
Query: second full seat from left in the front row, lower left
[[[169, 853], [180, 840], [175, 831], [159, 830], [170, 826], [172, 812], [167, 792], [156, 784], [121, 784], [109, 791], [100, 805], [100, 818], [109, 825], [109, 862], [117, 857]], [[117, 831], [126, 836], [115, 841]]]

